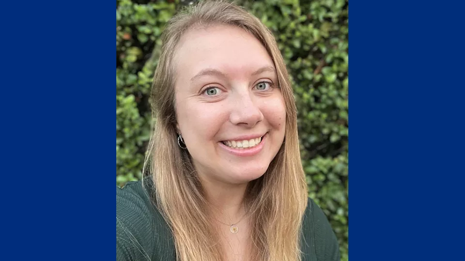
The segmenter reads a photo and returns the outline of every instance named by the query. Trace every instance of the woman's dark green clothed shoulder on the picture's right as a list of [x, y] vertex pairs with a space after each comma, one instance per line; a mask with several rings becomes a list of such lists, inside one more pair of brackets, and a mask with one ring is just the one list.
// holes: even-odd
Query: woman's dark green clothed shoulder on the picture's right
[[302, 246], [307, 255], [304, 260], [340, 261], [336, 234], [323, 210], [310, 198], [305, 210], [302, 233]]

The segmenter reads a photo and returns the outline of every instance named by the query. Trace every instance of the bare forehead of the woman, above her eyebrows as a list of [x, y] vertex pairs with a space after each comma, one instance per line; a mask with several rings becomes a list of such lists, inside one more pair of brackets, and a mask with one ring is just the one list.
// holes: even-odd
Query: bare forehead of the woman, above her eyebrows
[[245, 75], [273, 61], [263, 45], [247, 31], [233, 26], [190, 29], [176, 52], [177, 78], [192, 77], [205, 68]]

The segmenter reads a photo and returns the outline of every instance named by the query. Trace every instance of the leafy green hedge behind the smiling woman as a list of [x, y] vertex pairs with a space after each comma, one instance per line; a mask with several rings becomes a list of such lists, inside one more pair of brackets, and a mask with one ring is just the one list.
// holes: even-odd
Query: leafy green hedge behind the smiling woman
[[[141, 177], [148, 94], [165, 23], [180, 0], [116, 2], [116, 183]], [[181, 1], [187, 2], [187, 1]], [[237, 0], [279, 43], [298, 108], [310, 197], [325, 211], [348, 260], [348, 1]]]

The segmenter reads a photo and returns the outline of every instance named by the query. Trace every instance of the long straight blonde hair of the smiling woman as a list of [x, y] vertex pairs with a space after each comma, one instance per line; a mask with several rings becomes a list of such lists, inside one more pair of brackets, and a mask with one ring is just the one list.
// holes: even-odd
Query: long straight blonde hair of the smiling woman
[[[252, 14], [223, 0], [202, 1], [175, 15], [162, 35], [152, 105], [154, 133], [148, 148], [155, 200], [171, 228], [180, 261], [222, 261], [224, 250], [206, 214], [208, 203], [187, 150], [176, 141], [174, 81], [178, 43], [194, 26], [230, 25], [246, 30], [266, 48], [276, 67], [286, 106], [286, 135], [263, 176], [249, 183], [245, 203], [251, 214], [253, 261], [299, 261], [302, 218], [308, 194], [297, 135], [293, 89], [273, 34]], [[145, 168], [145, 166], [144, 166]], [[145, 172], [145, 171], [144, 171]]]

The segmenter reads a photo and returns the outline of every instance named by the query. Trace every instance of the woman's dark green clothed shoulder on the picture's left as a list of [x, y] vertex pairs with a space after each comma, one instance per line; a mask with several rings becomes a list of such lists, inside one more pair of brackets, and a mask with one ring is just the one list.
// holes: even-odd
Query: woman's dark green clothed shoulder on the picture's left
[[168, 225], [155, 207], [150, 186], [137, 181], [116, 187], [117, 260], [153, 260], [161, 245], [170, 244]]

